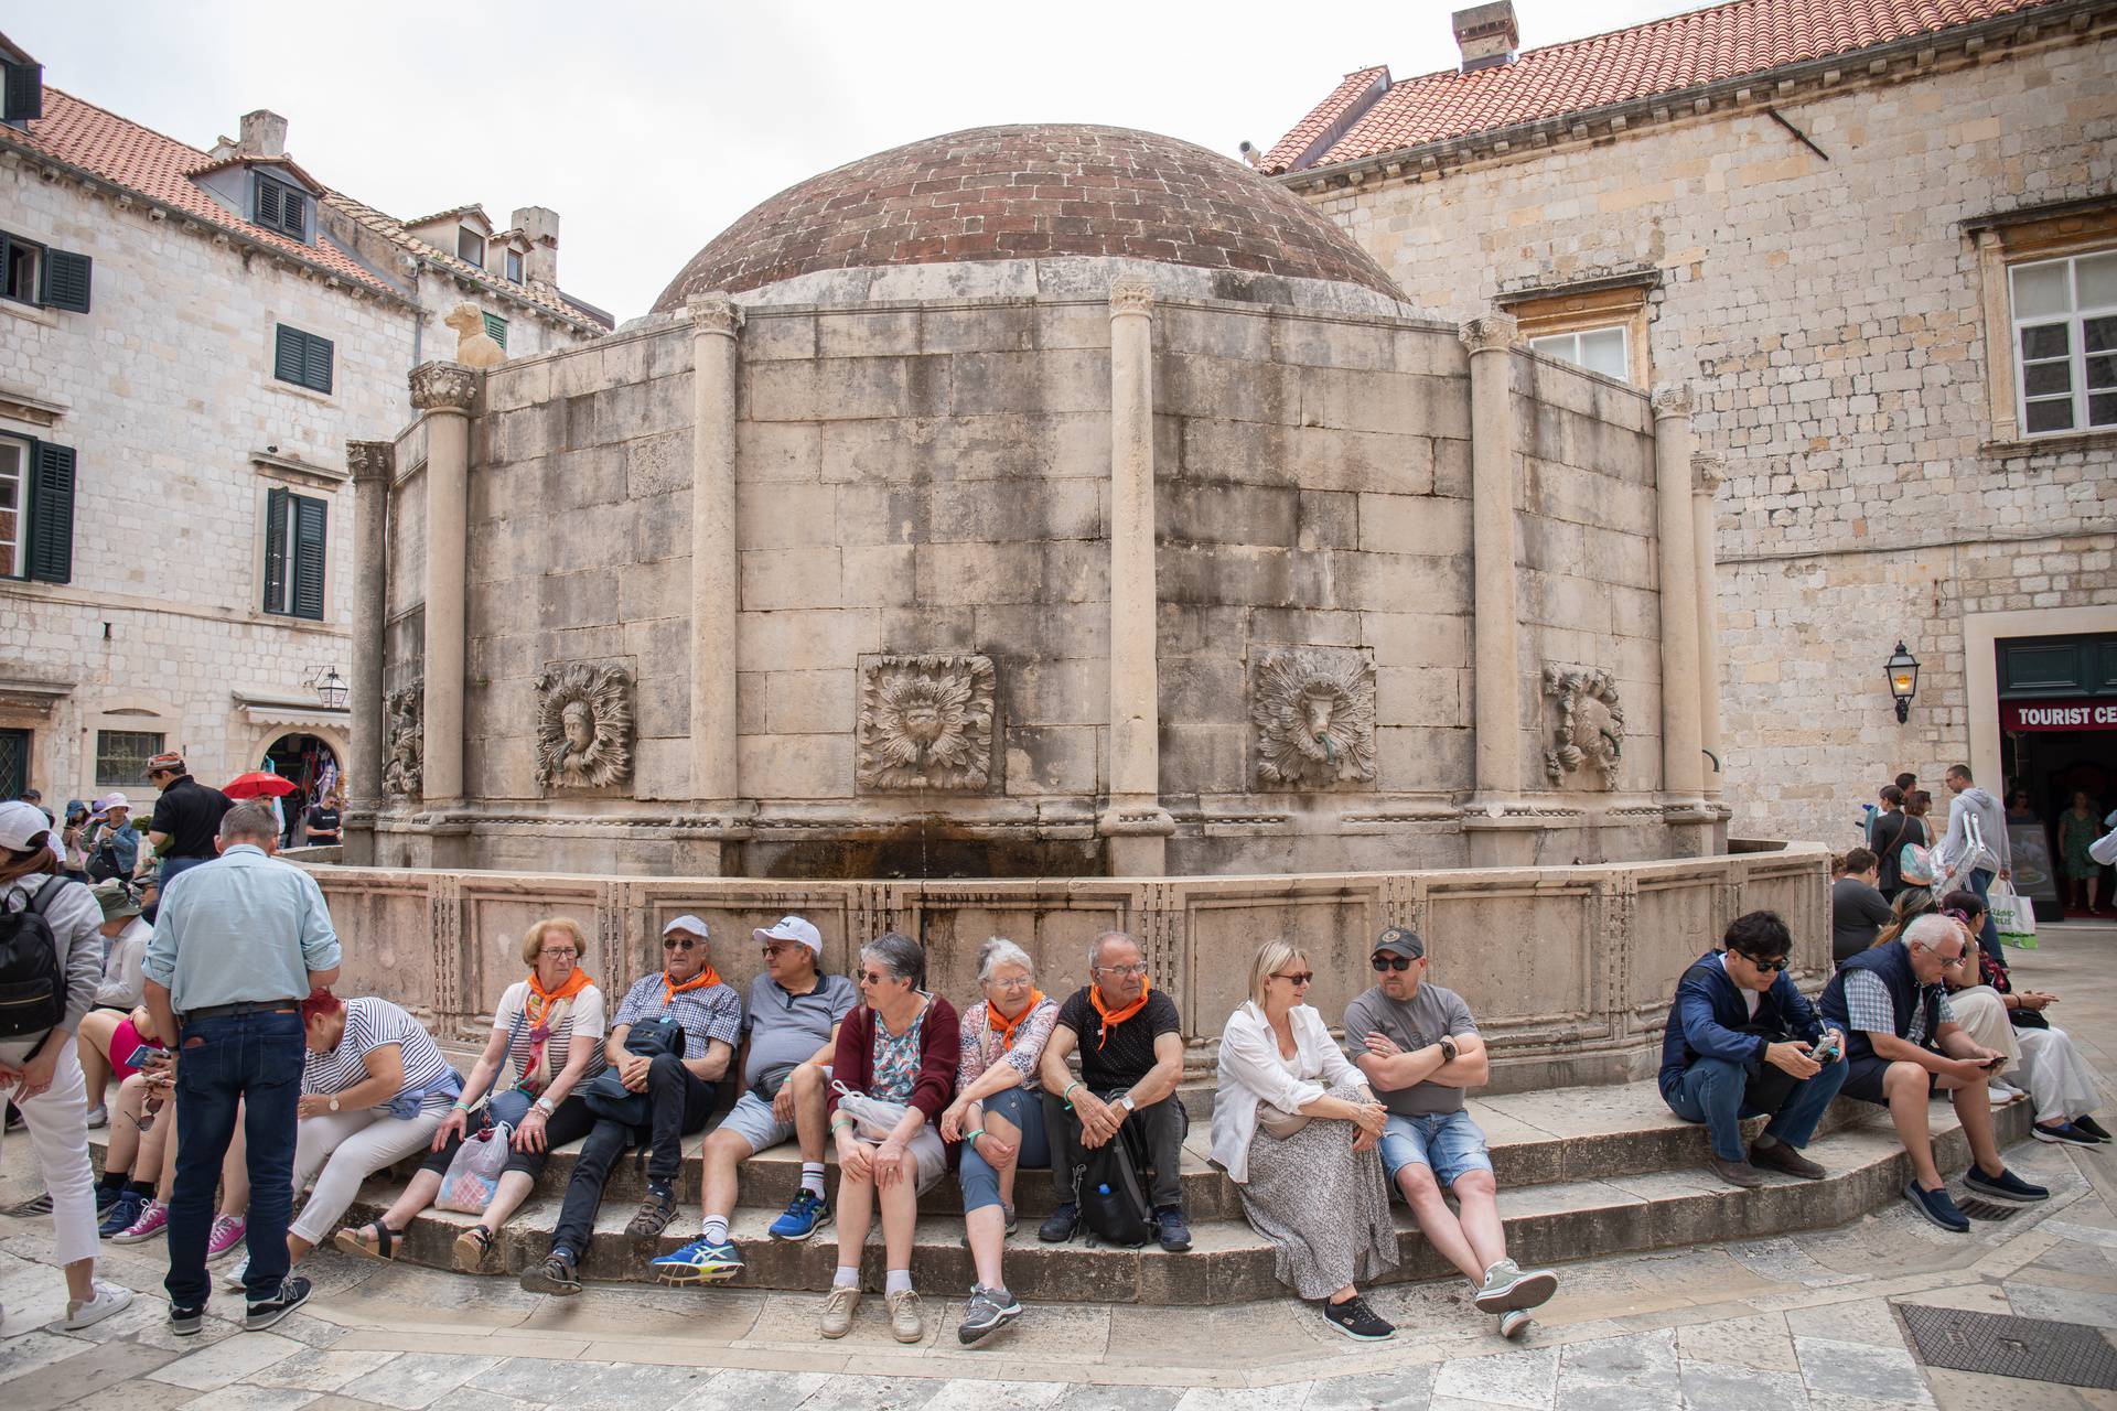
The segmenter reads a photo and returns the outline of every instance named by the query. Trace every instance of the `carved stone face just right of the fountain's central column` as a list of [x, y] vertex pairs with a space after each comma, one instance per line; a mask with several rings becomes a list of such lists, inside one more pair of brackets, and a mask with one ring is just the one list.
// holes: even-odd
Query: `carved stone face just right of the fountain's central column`
[[1249, 679], [1260, 789], [1374, 778], [1374, 662], [1349, 647], [1274, 647]]

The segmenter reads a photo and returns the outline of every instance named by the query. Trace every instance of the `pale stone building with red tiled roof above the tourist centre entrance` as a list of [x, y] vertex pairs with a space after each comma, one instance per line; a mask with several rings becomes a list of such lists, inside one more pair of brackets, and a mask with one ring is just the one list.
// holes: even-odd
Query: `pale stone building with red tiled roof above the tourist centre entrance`
[[[2117, 372], [2077, 360], [2075, 425], [2024, 425], [2009, 286], [2117, 252], [2117, 6], [1804, 30], [1736, 0], [1520, 55], [1509, 15], [1495, 59], [1473, 21], [1505, 8], [1456, 17], [1463, 72], [1346, 76], [1264, 167], [1418, 305], [1696, 383], [1738, 831], [1846, 840], [1905, 768], [1943, 800], [1958, 759], [1996, 787], [1996, 643], [2117, 660], [2117, 396], [2092, 400]], [[2117, 313], [2098, 298], [2075, 336]], [[1901, 726], [1899, 639], [1922, 662]]]

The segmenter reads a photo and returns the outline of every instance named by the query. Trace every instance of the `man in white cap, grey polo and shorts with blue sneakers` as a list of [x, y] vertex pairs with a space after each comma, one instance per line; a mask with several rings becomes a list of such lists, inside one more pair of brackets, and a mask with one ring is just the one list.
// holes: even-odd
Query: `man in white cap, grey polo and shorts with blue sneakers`
[[838, 1024], [860, 1003], [845, 975], [824, 975], [824, 937], [800, 916], [752, 931], [764, 948], [764, 973], [749, 982], [743, 1018], [743, 1096], [705, 1138], [705, 1223], [699, 1238], [652, 1263], [665, 1284], [720, 1284], [743, 1271], [728, 1238], [735, 1168], [788, 1138], [800, 1140], [800, 1189], [771, 1225], [773, 1240], [807, 1240], [830, 1223], [824, 1204], [824, 1123], [830, 1056]]

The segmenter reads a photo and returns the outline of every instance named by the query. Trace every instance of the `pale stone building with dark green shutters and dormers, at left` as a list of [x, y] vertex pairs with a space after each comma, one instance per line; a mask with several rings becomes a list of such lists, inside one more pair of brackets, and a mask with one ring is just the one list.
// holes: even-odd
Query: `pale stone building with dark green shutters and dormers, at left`
[[557, 218], [510, 286], [318, 184], [275, 114], [191, 148], [4, 49], [36, 116], [0, 125], [0, 783], [144, 806], [159, 749], [216, 783], [275, 745], [343, 768], [345, 442], [409, 417], [457, 305], [529, 353], [610, 319], [548, 281]]

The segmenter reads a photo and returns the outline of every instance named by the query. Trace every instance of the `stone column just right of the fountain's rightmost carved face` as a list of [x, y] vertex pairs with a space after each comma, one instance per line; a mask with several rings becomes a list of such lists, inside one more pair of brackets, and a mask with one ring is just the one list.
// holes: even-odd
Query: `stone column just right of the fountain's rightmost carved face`
[[[1704, 821], [1698, 679], [1698, 554], [1691, 550], [1691, 389], [1653, 389], [1655, 544], [1662, 584], [1662, 810], [1675, 825]], [[1687, 838], [1681, 850], [1702, 850]]]

